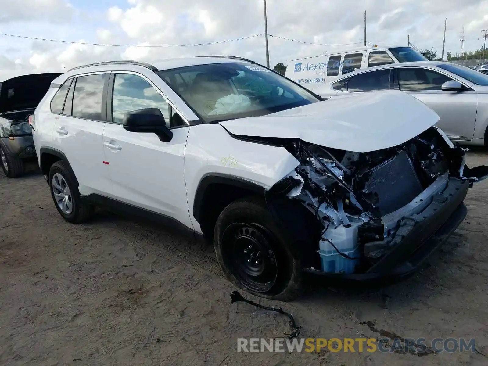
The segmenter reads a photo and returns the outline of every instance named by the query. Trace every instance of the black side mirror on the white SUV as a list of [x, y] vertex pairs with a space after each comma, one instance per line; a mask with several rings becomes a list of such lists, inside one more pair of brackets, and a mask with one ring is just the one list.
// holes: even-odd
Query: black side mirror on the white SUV
[[163, 142], [170, 142], [173, 138], [173, 132], [166, 127], [163, 113], [158, 108], [144, 108], [125, 113], [122, 127], [129, 132], [155, 133]]

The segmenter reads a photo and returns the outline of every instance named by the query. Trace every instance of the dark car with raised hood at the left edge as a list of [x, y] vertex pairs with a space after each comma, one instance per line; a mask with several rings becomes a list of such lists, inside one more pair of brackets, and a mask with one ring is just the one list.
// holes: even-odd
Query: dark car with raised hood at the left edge
[[20, 177], [24, 160], [36, 156], [29, 116], [59, 75], [29, 74], [0, 82], [0, 159], [9, 178]]

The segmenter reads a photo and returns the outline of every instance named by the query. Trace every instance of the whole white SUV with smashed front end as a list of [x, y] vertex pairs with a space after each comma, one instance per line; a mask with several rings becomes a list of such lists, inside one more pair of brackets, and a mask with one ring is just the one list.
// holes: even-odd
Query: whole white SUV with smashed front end
[[213, 242], [225, 275], [291, 300], [305, 272], [412, 273], [488, 174], [400, 91], [330, 101], [249, 60], [113, 61], [69, 70], [30, 117], [61, 216], [97, 205]]

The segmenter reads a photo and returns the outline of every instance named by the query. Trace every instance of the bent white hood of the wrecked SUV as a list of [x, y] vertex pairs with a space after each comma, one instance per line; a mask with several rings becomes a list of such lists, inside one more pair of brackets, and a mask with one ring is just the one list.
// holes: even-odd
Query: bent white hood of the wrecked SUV
[[234, 135], [298, 138], [364, 153], [406, 142], [438, 121], [439, 116], [423, 102], [398, 90], [385, 90], [219, 123]]

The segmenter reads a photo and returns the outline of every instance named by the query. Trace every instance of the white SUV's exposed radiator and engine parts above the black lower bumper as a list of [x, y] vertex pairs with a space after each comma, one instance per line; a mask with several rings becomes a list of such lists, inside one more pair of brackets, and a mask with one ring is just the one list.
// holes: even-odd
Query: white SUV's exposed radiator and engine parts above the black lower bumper
[[409, 216], [439, 201], [436, 195], [447, 195], [443, 191], [448, 182], [471, 185], [488, 174], [486, 166], [469, 169], [466, 149], [454, 146], [436, 127], [368, 153], [298, 139], [265, 140], [285, 147], [300, 162], [269, 193], [298, 200], [320, 222], [320, 242], [314, 249], [321, 268], [313, 269], [331, 273], [365, 272], [416, 224], [408, 226]]

